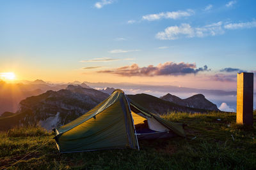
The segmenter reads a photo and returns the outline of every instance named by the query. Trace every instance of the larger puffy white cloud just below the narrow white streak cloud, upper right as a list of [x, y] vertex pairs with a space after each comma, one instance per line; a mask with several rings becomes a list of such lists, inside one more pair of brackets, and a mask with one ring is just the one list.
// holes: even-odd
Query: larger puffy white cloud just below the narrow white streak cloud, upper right
[[217, 34], [223, 34], [224, 31], [221, 27], [222, 22], [216, 22], [214, 24], [205, 25], [204, 27], [191, 27], [189, 24], [181, 24], [180, 26], [171, 26], [164, 29], [163, 32], [156, 34], [157, 39], [178, 39], [183, 36], [186, 38], [193, 37], [205, 37], [215, 36]]

